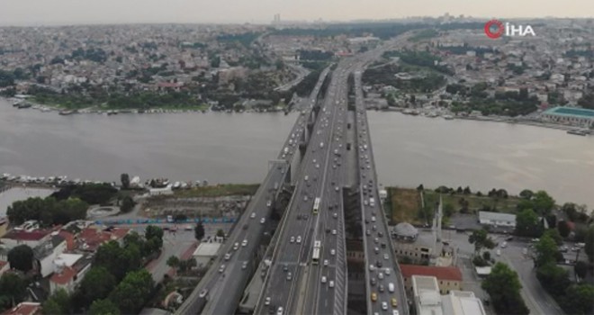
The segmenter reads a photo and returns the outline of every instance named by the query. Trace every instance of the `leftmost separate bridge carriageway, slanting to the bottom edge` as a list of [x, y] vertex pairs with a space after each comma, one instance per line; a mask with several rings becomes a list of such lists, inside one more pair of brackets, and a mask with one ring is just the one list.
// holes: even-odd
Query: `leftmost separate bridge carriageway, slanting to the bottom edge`
[[276, 193], [282, 188], [285, 176], [295, 153], [299, 152], [299, 142], [307, 131], [313, 103], [320, 93], [321, 85], [329, 69], [322, 72], [318, 84], [306, 100], [308, 106], [293, 125], [291, 133], [278, 154], [279, 161], [271, 164], [263, 184], [258, 187], [247, 210], [238, 220], [235, 229], [221, 247], [213, 266], [204, 275], [186, 302], [177, 313], [231, 314], [235, 311], [249, 276], [257, 265], [256, 252], [266, 230], [275, 202]]

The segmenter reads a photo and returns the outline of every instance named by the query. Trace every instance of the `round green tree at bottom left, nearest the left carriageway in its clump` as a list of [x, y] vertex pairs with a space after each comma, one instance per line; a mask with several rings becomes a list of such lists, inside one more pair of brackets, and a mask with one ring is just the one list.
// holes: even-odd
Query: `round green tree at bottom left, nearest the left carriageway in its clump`
[[110, 300], [118, 305], [124, 314], [136, 314], [147, 302], [154, 282], [147, 270], [131, 272], [110, 294]]

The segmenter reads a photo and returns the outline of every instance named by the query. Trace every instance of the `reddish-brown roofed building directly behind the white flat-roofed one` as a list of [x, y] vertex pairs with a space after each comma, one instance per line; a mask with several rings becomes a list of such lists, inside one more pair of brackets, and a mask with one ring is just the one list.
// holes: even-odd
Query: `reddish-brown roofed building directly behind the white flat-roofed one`
[[437, 279], [439, 293], [448, 294], [452, 291], [462, 290], [462, 272], [454, 266], [417, 266], [401, 264], [404, 288], [407, 293], [412, 293], [412, 276], [427, 275]]

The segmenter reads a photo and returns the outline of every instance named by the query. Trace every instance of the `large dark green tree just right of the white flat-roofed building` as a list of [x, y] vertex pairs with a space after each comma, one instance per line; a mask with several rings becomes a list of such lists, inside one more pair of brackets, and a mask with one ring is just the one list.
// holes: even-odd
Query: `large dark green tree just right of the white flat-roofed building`
[[518, 274], [503, 263], [497, 263], [481, 287], [491, 296], [492, 305], [498, 313], [528, 314], [528, 309], [519, 291], [522, 285]]

